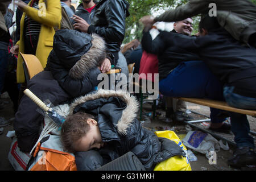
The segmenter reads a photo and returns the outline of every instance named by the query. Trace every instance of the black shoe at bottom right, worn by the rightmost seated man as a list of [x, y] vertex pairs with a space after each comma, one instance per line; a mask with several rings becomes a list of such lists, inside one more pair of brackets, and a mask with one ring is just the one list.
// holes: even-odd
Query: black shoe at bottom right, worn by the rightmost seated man
[[228, 159], [228, 164], [234, 168], [246, 167], [256, 164], [256, 155], [253, 148], [241, 147], [234, 151], [232, 158]]

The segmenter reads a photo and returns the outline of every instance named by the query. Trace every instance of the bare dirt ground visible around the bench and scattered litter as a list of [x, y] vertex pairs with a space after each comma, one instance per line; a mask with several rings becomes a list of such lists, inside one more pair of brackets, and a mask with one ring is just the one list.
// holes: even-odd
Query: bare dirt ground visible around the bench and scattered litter
[[[0, 110], [0, 117], [5, 117], [6, 119], [14, 118], [14, 111], [13, 111], [13, 103], [11, 102], [9, 96], [7, 93], [2, 94], [0, 98], [0, 102], [4, 102], [5, 108]], [[209, 107], [191, 104], [189, 102], [186, 102], [187, 109], [192, 111], [191, 115], [193, 119], [207, 119], [210, 114]], [[150, 104], [144, 104], [143, 105], [143, 113], [150, 113], [151, 112], [151, 105]], [[163, 110], [157, 110], [160, 114], [160, 117], [156, 117], [154, 120], [150, 119], [150, 117], [144, 115], [142, 124], [144, 127], [147, 127], [151, 130], [157, 130], [157, 129], [172, 129], [175, 131], [175, 133], [180, 137], [185, 134], [187, 134], [187, 130], [185, 129], [185, 126], [172, 126], [170, 123], [165, 123], [162, 121], [164, 112]], [[200, 114], [195, 114], [200, 113]], [[162, 115], [162, 117], [161, 117]], [[148, 119], [147, 119], [148, 118]], [[247, 116], [250, 122], [251, 131], [256, 131], [256, 118]], [[161, 128], [162, 127], [162, 128]], [[8, 131], [13, 130], [13, 125], [5, 126], [3, 127], [4, 131], [0, 135], [0, 171], [13, 171], [14, 168], [11, 166], [8, 160], [8, 153], [10, 150], [11, 145], [11, 138], [6, 137], [6, 134]], [[232, 146], [232, 144], [229, 144], [230, 149], [228, 151], [220, 150], [217, 152], [217, 164], [209, 164], [208, 159], [204, 154], [200, 154], [199, 152], [192, 151], [193, 154], [197, 157], [197, 160], [195, 162], [191, 162], [191, 168], [193, 171], [234, 171], [234, 170], [241, 170], [241, 169], [234, 169], [228, 166], [227, 160], [232, 155], [233, 150], [235, 149], [235, 146]]]

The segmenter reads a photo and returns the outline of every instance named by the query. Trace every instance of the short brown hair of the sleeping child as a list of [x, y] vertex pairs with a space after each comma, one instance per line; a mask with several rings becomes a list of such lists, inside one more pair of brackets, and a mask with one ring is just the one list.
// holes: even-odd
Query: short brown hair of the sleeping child
[[95, 119], [92, 114], [78, 112], [72, 114], [65, 119], [61, 126], [61, 142], [63, 143], [64, 150], [74, 153], [75, 143], [80, 138], [84, 137], [90, 130], [90, 126], [86, 122], [89, 118]]

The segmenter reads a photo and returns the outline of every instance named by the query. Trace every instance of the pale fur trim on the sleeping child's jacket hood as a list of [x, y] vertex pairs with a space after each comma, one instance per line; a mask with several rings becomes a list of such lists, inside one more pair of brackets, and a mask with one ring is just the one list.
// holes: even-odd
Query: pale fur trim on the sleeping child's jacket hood
[[69, 105], [69, 114], [72, 114], [77, 106], [84, 104], [85, 102], [97, 100], [99, 98], [108, 99], [110, 97], [118, 97], [126, 104], [125, 109], [122, 110], [121, 118], [119, 118], [116, 125], [118, 133], [126, 135], [127, 128], [131, 126], [131, 122], [133, 122], [137, 117], [139, 103], [134, 96], [130, 96], [130, 93], [124, 92], [122, 90], [100, 89], [96, 92], [76, 98], [76, 100]]

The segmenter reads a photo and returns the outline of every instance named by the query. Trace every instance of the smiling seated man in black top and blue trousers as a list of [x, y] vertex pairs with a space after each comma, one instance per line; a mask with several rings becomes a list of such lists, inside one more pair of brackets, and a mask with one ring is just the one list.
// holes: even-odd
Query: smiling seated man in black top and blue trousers
[[[171, 32], [161, 31], [154, 40], [152, 40], [148, 32], [151, 27], [146, 25], [144, 28], [142, 38], [143, 49], [158, 55], [159, 91], [168, 97], [206, 97], [212, 99], [222, 97], [220, 81], [210, 72], [209, 68], [200, 60], [196, 53], [166, 44], [171, 35], [177, 36], [176, 41], [179, 41], [179, 38], [184, 40], [196, 39], [195, 36], [188, 36], [192, 32], [191, 25], [191, 18], [175, 22], [174, 30]], [[220, 110], [210, 108], [210, 111], [210, 129], [229, 131], [230, 125], [223, 122], [225, 118], [218, 118]], [[173, 110], [168, 110], [169, 114], [173, 112]], [[178, 111], [173, 114], [172, 118], [174, 121], [177, 121], [177, 124], [185, 119], [182, 113], [182, 111]]]

